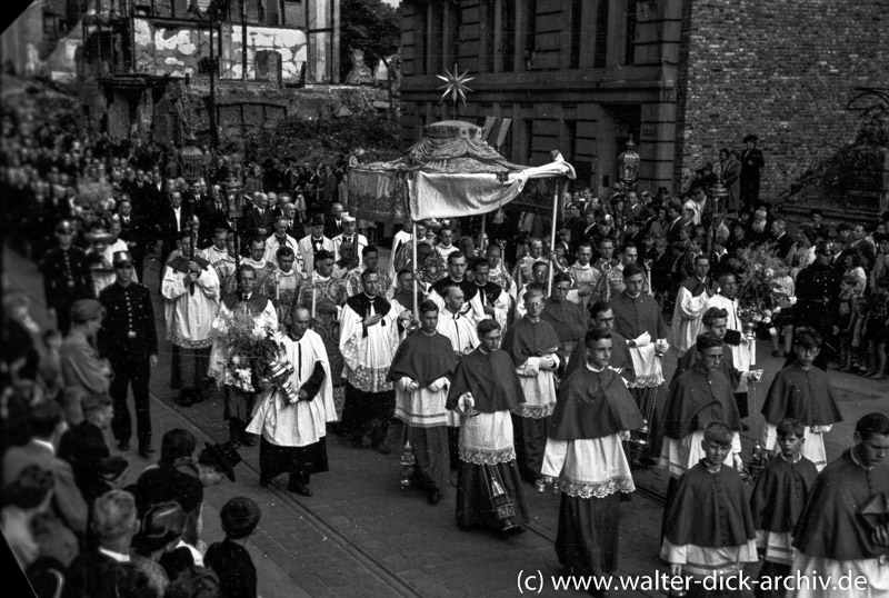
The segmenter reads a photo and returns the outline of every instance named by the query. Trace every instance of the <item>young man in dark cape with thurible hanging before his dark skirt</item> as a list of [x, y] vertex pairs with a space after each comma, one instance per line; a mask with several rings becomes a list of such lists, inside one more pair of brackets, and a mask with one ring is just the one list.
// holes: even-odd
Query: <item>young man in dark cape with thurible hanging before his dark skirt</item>
[[519, 532], [528, 510], [509, 411], [522, 396], [521, 385], [512, 360], [497, 348], [500, 326], [482, 320], [477, 331], [481, 345], [458, 363], [446, 403], [461, 416], [457, 525]]

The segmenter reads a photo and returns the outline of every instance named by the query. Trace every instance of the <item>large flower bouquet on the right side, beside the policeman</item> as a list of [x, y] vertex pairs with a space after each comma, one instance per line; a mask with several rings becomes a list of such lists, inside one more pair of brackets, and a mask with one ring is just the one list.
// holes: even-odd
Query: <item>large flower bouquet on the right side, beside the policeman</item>
[[740, 256], [738, 273], [738, 316], [745, 333], [750, 337], [758, 327], [771, 327], [776, 311], [780, 310], [781, 293], [775, 278], [787, 272], [783, 261], [762, 248], [746, 249]]

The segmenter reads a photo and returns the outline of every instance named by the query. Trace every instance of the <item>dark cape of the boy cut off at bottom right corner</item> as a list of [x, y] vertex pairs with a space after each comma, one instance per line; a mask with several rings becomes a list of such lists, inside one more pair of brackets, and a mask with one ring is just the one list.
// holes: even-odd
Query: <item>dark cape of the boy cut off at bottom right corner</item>
[[803, 555], [855, 560], [889, 554], [873, 545], [870, 529], [856, 515], [871, 496], [889, 496], [889, 465], [867, 470], [855, 462], [851, 451], [828, 464], [815, 480], [793, 530], [793, 546]]

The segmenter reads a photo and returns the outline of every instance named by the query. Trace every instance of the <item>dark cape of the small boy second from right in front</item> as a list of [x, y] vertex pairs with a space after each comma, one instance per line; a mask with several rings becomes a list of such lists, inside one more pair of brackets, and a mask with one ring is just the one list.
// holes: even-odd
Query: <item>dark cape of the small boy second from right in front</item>
[[783, 534], [793, 531], [818, 470], [802, 457], [796, 464], [778, 455], [769, 460], [750, 496], [757, 529]]

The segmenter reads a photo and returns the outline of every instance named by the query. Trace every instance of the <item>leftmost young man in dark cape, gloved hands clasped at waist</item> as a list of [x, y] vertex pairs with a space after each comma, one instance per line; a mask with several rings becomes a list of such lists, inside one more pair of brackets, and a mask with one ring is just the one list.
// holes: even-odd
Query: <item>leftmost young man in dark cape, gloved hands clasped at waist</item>
[[396, 386], [396, 417], [408, 427], [416, 460], [413, 482], [436, 505], [447, 491], [450, 478], [444, 405], [448, 380], [457, 368], [457, 353], [451, 341], [436, 331], [436, 302], [422, 301], [419, 311], [421, 328], [398, 347], [388, 380]]

